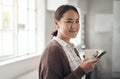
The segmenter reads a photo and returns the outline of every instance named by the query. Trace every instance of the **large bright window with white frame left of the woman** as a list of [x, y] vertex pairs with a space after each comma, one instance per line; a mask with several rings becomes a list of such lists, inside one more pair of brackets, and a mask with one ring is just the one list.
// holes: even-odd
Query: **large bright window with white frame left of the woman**
[[35, 0], [0, 0], [0, 59], [37, 52]]

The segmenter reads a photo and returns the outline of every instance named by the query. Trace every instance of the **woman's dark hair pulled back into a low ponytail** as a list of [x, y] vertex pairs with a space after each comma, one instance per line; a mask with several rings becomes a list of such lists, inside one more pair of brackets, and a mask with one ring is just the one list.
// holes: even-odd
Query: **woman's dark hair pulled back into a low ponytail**
[[[55, 11], [55, 14], [54, 14], [54, 19], [56, 19], [57, 21], [60, 21], [60, 19], [63, 17], [63, 14], [65, 12], [67, 12], [68, 10], [74, 10], [79, 15], [77, 9], [74, 6], [67, 4], [67, 5], [61, 5], [60, 7], [57, 8], [57, 10]], [[57, 36], [57, 33], [58, 33], [58, 31], [55, 30], [52, 33], [52, 37]]]

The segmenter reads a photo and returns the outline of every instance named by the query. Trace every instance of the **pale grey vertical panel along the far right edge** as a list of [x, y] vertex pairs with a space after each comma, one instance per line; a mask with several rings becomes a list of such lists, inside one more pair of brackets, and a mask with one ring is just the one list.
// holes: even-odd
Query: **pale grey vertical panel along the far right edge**
[[114, 0], [114, 27], [113, 27], [113, 72], [120, 72], [120, 0]]

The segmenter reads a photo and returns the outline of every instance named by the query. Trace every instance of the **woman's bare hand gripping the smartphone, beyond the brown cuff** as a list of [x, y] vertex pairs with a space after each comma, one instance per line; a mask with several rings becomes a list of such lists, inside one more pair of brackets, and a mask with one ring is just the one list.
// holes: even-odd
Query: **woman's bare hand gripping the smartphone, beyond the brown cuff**
[[80, 67], [85, 71], [85, 73], [91, 72], [96, 63], [99, 61], [99, 58], [93, 58], [93, 59], [84, 59], [82, 63], [80, 64]]

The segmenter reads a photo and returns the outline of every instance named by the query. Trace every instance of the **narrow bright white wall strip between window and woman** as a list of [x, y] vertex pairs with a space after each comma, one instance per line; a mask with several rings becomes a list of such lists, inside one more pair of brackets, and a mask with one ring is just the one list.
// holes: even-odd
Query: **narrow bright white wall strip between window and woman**
[[[45, 45], [46, 0], [37, 0], [37, 52], [41, 53]], [[42, 32], [42, 33], [41, 33]]]

